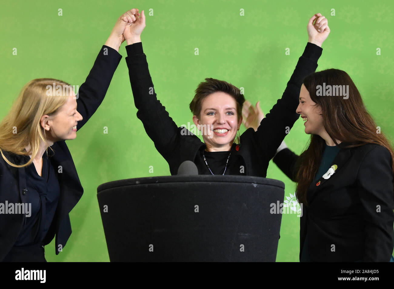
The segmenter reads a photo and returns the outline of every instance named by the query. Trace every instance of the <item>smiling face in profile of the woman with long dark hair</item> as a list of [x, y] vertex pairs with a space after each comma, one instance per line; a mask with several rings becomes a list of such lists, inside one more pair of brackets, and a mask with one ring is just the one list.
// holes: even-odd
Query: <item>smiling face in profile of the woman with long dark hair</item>
[[312, 99], [310, 99], [309, 92], [305, 85], [301, 86], [299, 93], [299, 105], [296, 112], [301, 114], [304, 120], [305, 133], [318, 134], [320, 136], [327, 134], [323, 127], [323, 117], [321, 109]]

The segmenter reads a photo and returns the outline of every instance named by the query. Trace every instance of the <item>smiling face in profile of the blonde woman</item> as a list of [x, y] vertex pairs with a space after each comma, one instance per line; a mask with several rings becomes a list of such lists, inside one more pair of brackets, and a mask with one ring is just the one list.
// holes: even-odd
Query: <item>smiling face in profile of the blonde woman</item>
[[76, 110], [77, 103], [74, 97], [74, 92], [71, 92], [67, 102], [59, 108], [56, 114], [41, 117], [41, 126], [44, 127], [49, 141], [57, 142], [76, 138], [76, 125], [82, 120], [82, 116]]

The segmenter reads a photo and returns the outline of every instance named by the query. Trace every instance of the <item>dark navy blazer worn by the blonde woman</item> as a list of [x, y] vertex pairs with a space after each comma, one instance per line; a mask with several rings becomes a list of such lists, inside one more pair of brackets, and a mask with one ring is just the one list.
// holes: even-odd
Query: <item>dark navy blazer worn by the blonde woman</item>
[[[119, 52], [113, 48], [102, 46], [93, 68], [77, 94], [78, 112], [83, 117], [83, 120], [78, 122], [77, 130], [89, 120], [103, 101], [121, 58]], [[60, 252], [59, 249], [64, 248], [71, 235], [69, 212], [81, 198], [84, 189], [65, 141], [55, 142], [52, 149], [54, 154], [48, 149], [48, 155], [52, 153], [50, 154], [50, 162], [57, 173], [60, 197], [54, 219], [44, 239], [44, 245], [50, 243], [56, 235], [55, 251], [57, 255]], [[24, 164], [30, 159], [29, 156], [7, 152], [4, 154], [11, 162], [17, 164]], [[59, 166], [61, 166], [62, 173], [59, 173]], [[6, 201], [14, 204], [24, 203], [28, 193], [26, 191], [25, 169], [9, 166], [0, 157], [0, 203], [5, 204]], [[23, 228], [25, 218], [23, 214], [0, 214], [0, 261], [13, 247]]]

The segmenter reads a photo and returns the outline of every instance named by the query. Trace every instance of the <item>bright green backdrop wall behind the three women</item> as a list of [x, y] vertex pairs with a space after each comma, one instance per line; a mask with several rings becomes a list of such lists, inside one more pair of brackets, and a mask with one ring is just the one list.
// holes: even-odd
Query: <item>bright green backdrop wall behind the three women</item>
[[[282, 96], [308, 40], [314, 13], [329, 20], [318, 70], [345, 70], [359, 88], [382, 133], [394, 140], [392, 78], [394, 62], [393, 2], [343, 1], [9, 1], [1, 3], [2, 79], [0, 118], [25, 83], [51, 77], [81, 85], [117, 20], [132, 8], [145, 10], [144, 52], [158, 99], [178, 124], [192, 121], [188, 109], [194, 90], [205, 77], [244, 87], [245, 98], [261, 101], [267, 113]], [[63, 16], [58, 16], [58, 9]], [[153, 16], [149, 16], [153, 9]], [[245, 16], [240, 16], [244, 9]], [[335, 9], [335, 16], [331, 15]], [[72, 234], [58, 256], [54, 241], [45, 247], [48, 261], [109, 261], [97, 186], [135, 177], [169, 175], [136, 117], [123, 44], [106, 98], [91, 120], [67, 141], [84, 195], [70, 213]], [[17, 48], [17, 55], [13, 55]], [[199, 55], [194, 49], [199, 48]], [[285, 49], [290, 48], [290, 55]], [[376, 55], [381, 48], [381, 55]], [[103, 127], [108, 127], [108, 134]], [[241, 133], [245, 130], [242, 127]], [[309, 135], [296, 122], [285, 140], [301, 153]], [[149, 173], [153, 166], [153, 173]], [[272, 162], [268, 178], [282, 180], [285, 195], [295, 183]], [[299, 261], [299, 218], [282, 216], [277, 261]]]

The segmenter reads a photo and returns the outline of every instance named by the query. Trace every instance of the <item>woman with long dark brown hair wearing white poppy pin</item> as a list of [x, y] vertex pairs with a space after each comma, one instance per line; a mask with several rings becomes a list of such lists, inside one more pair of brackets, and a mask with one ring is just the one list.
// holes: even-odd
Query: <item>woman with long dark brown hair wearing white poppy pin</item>
[[[303, 80], [296, 111], [310, 144], [297, 156], [282, 143], [273, 161], [303, 204], [300, 261], [390, 261], [393, 149], [359, 90], [342, 70], [316, 72]], [[248, 126], [262, 114], [250, 103], [244, 112]]]

